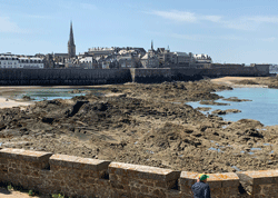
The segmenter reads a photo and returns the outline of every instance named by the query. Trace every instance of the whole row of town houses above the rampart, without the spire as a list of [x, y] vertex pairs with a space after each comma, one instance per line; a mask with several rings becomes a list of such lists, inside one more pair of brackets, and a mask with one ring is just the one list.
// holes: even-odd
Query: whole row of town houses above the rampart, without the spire
[[68, 53], [37, 53], [34, 56], [0, 55], [0, 68], [82, 68], [82, 69], [109, 69], [109, 68], [163, 68], [163, 67], [190, 67], [196, 63], [211, 63], [207, 55], [193, 55], [187, 52], [171, 52], [168, 49], [158, 48], [146, 51], [143, 48], [111, 47], [89, 48], [88, 51], [71, 56]]

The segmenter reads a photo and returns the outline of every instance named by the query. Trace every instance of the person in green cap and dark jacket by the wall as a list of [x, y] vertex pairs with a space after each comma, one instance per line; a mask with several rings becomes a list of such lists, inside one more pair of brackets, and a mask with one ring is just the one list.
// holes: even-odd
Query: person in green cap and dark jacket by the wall
[[191, 186], [193, 198], [210, 198], [210, 188], [207, 184], [207, 178], [209, 176], [206, 174], [198, 176], [197, 182]]

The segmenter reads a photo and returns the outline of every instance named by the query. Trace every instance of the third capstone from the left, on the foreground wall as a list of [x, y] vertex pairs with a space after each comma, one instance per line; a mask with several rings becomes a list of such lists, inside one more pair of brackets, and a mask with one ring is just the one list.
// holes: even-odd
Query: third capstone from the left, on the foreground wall
[[179, 178], [180, 171], [141, 165], [111, 162], [109, 174], [123, 175], [129, 178], [169, 181]]

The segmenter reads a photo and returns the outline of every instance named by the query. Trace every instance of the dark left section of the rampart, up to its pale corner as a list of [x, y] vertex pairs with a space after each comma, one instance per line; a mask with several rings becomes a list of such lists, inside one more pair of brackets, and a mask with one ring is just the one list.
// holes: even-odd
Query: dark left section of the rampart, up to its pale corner
[[0, 69], [0, 86], [89, 86], [129, 81], [129, 69]]

